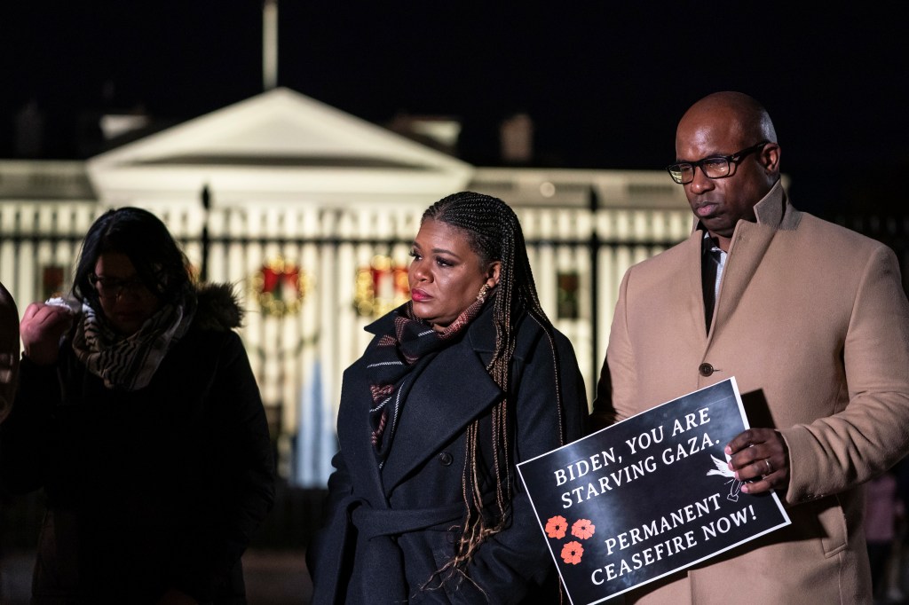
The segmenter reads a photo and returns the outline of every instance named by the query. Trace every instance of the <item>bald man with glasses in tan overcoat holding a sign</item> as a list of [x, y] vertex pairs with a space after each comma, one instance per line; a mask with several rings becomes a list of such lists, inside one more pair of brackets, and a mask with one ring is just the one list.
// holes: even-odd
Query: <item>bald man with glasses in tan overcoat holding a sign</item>
[[629, 593], [641, 603], [870, 603], [861, 484], [909, 450], [909, 303], [894, 253], [788, 201], [764, 108], [718, 93], [675, 137], [696, 227], [632, 267], [594, 402], [604, 426], [734, 376], [748, 494], [792, 524]]

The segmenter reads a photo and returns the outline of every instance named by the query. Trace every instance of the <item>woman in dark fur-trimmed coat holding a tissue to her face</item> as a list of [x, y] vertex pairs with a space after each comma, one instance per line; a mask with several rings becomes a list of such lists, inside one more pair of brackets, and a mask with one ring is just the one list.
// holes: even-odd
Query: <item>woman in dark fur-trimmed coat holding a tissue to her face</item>
[[46, 494], [32, 602], [245, 603], [274, 471], [231, 289], [197, 290], [165, 224], [121, 208], [73, 296], [25, 310], [0, 428], [3, 488]]

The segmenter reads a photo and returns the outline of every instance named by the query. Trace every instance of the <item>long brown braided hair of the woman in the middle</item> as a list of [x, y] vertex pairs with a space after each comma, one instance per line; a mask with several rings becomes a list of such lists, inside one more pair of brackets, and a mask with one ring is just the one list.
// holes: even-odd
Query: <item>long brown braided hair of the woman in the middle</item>
[[[505, 393], [492, 412], [492, 447], [496, 511], [484, 511], [481, 482], [484, 474], [477, 468], [480, 422], [466, 430], [466, 456], [462, 491], [466, 508], [464, 531], [456, 544], [454, 559], [445, 570], [464, 571], [477, 547], [489, 536], [502, 531], [510, 514], [514, 473], [510, 461], [508, 393], [511, 365], [516, 343], [516, 322], [523, 313], [533, 316], [553, 338], [552, 323], [546, 318], [536, 294], [534, 275], [527, 258], [524, 233], [517, 215], [502, 200], [483, 193], [461, 192], [448, 195], [426, 209], [421, 223], [439, 221], [460, 229], [470, 248], [484, 264], [499, 261], [499, 283], [493, 298], [495, 350], [486, 371]], [[556, 384], [558, 377], [556, 376]], [[561, 409], [561, 402], [558, 402]]]

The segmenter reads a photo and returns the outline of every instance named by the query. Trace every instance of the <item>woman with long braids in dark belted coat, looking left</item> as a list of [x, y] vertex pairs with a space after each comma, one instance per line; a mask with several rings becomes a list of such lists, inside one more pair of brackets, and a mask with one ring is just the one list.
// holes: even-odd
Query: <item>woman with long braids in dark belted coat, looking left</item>
[[502, 200], [454, 193], [414, 240], [411, 301], [347, 369], [314, 603], [552, 603], [515, 464], [582, 436], [584, 382]]

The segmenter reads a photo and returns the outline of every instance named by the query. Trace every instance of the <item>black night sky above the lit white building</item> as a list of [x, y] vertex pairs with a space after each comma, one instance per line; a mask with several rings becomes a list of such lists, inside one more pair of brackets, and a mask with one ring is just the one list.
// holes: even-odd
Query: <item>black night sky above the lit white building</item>
[[[569, 168], [662, 169], [684, 110], [740, 90], [774, 118], [798, 205], [904, 207], [903, 16], [827, 6], [279, 0], [278, 80], [378, 124], [459, 117], [464, 159], [481, 165], [497, 161], [497, 124], [526, 112], [534, 164]], [[47, 119], [45, 156], [80, 157], [93, 115], [141, 106], [176, 123], [260, 93], [261, 10], [5, 2], [0, 156], [15, 155], [13, 115], [30, 99]]]

